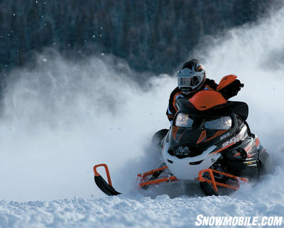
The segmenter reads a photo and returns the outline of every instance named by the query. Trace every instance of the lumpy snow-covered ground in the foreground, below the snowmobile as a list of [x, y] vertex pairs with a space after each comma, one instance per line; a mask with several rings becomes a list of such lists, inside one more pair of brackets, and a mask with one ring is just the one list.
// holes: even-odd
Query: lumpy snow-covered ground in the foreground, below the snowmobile
[[[283, 216], [283, 169], [231, 196], [119, 195], [95, 200], [0, 202], [0, 227], [195, 227], [197, 215]], [[268, 187], [269, 186], [269, 187]]]

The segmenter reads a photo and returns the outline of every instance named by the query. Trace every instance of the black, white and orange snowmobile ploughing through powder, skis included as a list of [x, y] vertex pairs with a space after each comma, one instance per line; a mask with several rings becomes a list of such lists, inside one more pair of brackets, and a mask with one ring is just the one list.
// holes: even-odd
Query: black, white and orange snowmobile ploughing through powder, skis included
[[[223, 78], [219, 86], [224, 83]], [[239, 189], [241, 181], [258, 179], [266, 172], [269, 154], [249, 129], [245, 102], [224, 99], [217, 87], [217, 91], [202, 90], [190, 99], [178, 98], [176, 103], [172, 126], [156, 132], [152, 140], [163, 163], [138, 174], [138, 188], [173, 181], [199, 182], [205, 195], [227, 195]], [[97, 172], [99, 166], [106, 169], [109, 183]], [[112, 187], [107, 165], [94, 166], [94, 180], [107, 195], [121, 194]]]

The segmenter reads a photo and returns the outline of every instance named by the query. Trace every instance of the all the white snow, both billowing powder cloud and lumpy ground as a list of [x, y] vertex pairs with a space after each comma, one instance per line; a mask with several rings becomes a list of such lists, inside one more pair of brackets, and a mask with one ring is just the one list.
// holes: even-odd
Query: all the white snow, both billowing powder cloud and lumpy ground
[[[204, 197], [198, 186], [133, 190], [137, 173], [159, 165], [147, 143], [168, 127], [175, 77], [151, 77], [141, 87], [121, 60], [70, 63], [52, 50], [38, 55], [34, 70], [11, 72], [0, 119], [0, 227], [194, 227], [199, 214], [283, 216], [283, 31], [280, 10], [207, 40], [194, 55], [207, 77], [218, 82], [233, 73], [244, 82], [234, 100], [249, 104], [251, 130], [275, 162], [260, 183], [230, 196]], [[109, 165], [126, 194], [98, 190], [97, 163]]]

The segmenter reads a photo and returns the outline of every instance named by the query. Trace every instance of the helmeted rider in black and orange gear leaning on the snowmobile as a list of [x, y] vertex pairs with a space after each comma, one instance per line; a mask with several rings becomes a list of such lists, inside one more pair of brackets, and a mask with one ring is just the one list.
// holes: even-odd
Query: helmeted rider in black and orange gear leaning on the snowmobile
[[[178, 99], [178, 97], [185, 97], [189, 99], [196, 92], [203, 89], [218, 90], [218, 85], [214, 82], [214, 80], [206, 78], [203, 65], [196, 59], [192, 59], [182, 64], [180, 70], [178, 70], [177, 76], [178, 87], [176, 87], [170, 94], [168, 109], [166, 112], [170, 124], [173, 123], [173, 117], [175, 116], [176, 112], [178, 112], [177, 107], [175, 107], [175, 101]], [[241, 82], [236, 79], [218, 91], [225, 99], [229, 99], [236, 96], [241, 87], [244, 87], [244, 84], [241, 84]]]

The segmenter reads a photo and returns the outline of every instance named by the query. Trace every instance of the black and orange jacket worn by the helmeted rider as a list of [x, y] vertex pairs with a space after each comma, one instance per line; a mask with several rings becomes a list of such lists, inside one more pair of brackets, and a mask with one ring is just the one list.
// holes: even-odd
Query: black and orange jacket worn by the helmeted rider
[[[203, 90], [203, 89], [216, 90], [217, 86], [218, 85], [214, 82], [214, 80], [209, 80], [209, 78], [207, 78], [204, 82], [204, 86], [201, 89], [199, 89], [198, 91]], [[198, 92], [198, 91], [196, 91], [196, 92]], [[167, 109], [167, 112], [166, 112], [168, 119], [170, 121], [170, 124], [172, 124], [173, 117], [178, 112], [177, 107], [175, 107], [175, 101], [178, 99], [178, 97], [185, 97], [185, 98], [190, 99], [196, 92], [188, 94], [187, 97], [185, 97], [185, 95], [182, 94], [182, 92], [180, 92], [179, 87], [176, 87], [175, 89], [173, 89], [173, 92], [171, 92], [171, 94], [170, 94], [168, 109]]]

